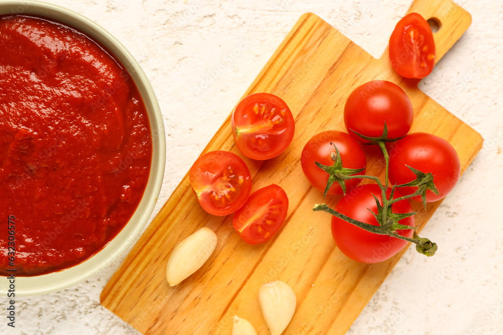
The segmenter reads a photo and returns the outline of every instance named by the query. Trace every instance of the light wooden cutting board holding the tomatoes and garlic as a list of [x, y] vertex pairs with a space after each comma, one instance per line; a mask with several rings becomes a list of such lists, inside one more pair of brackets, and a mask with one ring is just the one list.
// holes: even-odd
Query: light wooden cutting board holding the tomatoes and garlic
[[[471, 16], [449, 0], [418, 0], [409, 12], [440, 22], [435, 34], [437, 61], [471, 23]], [[233, 231], [232, 215], [212, 216], [201, 209], [187, 174], [104, 288], [103, 306], [144, 334], [230, 334], [235, 314], [248, 319], [260, 334], [268, 334], [257, 294], [260, 285], [280, 279], [297, 295], [286, 334], [344, 334], [404, 251], [373, 265], [344, 256], [332, 240], [330, 215], [311, 211], [323, 202], [322, 194], [304, 177], [300, 159], [314, 134], [345, 131], [346, 98], [374, 79], [390, 80], [405, 90], [414, 107], [411, 131], [448, 140], [465, 171], [482, 147], [477, 132], [418, 89], [418, 80], [398, 76], [387, 51], [375, 59], [316, 15], [304, 14], [243, 94], [271, 92], [287, 102], [296, 121], [292, 144], [272, 160], [247, 159], [234, 145], [229, 115], [203, 151], [228, 150], [242, 157], [253, 177], [253, 190], [271, 183], [282, 186], [290, 199], [282, 230], [268, 243], [247, 245]], [[236, 96], [235, 102], [239, 99]], [[371, 147], [366, 152], [367, 171], [382, 178], [381, 155]], [[327, 197], [326, 202], [333, 206], [339, 199]], [[423, 210], [414, 202], [419, 212], [416, 225], [423, 227], [439, 205]], [[170, 287], [165, 267], [173, 248], [204, 226], [218, 236], [215, 252], [193, 276]], [[429, 238], [436, 241], [435, 236]], [[440, 244], [438, 253], [442, 248]]]

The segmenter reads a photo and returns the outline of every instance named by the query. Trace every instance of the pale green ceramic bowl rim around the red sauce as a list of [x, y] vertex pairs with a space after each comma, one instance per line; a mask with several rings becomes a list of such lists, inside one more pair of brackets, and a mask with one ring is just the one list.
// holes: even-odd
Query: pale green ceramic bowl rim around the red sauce
[[[143, 98], [152, 131], [152, 165], [150, 176], [138, 208], [124, 229], [100, 252], [71, 268], [34, 277], [16, 278], [16, 296], [56, 292], [96, 275], [116, 261], [137, 239], [145, 226], [159, 195], [165, 165], [165, 135], [162, 115], [155, 93], [133, 55], [109, 32], [90, 19], [66, 8], [38, 1], [2, 1], [0, 15], [26, 14], [59, 21], [86, 33], [105, 46], [128, 70]], [[7, 295], [9, 283], [0, 277], [0, 295]]]

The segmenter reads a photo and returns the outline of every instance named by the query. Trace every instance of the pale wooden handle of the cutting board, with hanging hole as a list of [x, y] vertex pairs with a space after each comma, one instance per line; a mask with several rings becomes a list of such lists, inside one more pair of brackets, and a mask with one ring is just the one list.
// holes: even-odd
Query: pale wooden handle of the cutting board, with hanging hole
[[[435, 64], [470, 27], [471, 15], [451, 0], [415, 0], [407, 11], [419, 13], [426, 20], [435, 21], [439, 30], [433, 34], [437, 56]], [[388, 51], [381, 58], [389, 57]]]

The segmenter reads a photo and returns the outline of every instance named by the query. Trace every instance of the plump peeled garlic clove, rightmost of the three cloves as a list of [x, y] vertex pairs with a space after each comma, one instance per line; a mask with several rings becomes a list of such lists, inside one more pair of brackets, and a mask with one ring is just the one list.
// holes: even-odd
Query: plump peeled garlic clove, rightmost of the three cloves
[[276, 280], [260, 287], [259, 305], [272, 335], [280, 335], [292, 320], [297, 298], [287, 283]]

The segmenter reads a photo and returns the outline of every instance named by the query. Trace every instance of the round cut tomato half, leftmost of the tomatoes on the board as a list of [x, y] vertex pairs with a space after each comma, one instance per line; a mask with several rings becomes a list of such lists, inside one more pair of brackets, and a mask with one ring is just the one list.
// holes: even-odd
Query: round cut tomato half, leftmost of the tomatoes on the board
[[201, 207], [213, 215], [235, 212], [248, 199], [251, 177], [239, 156], [211, 151], [200, 156], [189, 172], [189, 180]]

